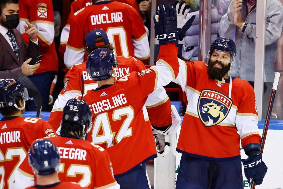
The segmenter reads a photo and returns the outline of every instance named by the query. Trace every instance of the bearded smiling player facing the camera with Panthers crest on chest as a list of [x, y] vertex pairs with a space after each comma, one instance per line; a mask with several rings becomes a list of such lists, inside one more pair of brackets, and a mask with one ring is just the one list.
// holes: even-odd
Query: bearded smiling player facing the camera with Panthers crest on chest
[[[175, 4], [178, 28], [187, 19], [185, 3]], [[159, 7], [160, 8], [160, 7]], [[249, 159], [242, 160], [248, 182], [260, 185], [267, 167], [259, 153], [261, 136], [254, 89], [239, 78], [228, 76], [236, 45], [217, 38], [202, 61], [179, 60], [176, 82], [187, 96], [177, 151], [182, 153], [176, 188], [243, 188], [240, 140]]]

